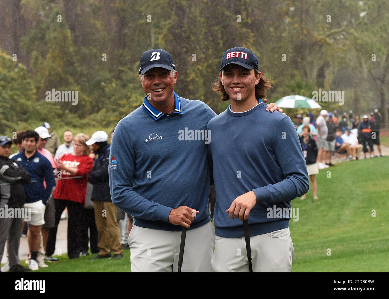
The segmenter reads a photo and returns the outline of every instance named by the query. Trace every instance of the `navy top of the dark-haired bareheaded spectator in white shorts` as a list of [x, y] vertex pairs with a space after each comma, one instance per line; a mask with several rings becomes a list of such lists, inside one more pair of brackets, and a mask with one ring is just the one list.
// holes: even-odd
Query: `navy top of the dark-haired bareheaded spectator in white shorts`
[[[26, 203], [42, 200], [42, 202], [46, 204], [47, 199], [49, 199], [51, 191], [55, 186], [53, 166], [50, 161], [37, 150], [35, 150], [35, 154], [28, 159], [23, 150], [22, 153], [13, 156], [12, 160], [16, 160], [22, 165], [25, 171], [30, 174], [31, 181], [37, 181], [24, 185]], [[46, 181], [46, 189], [43, 185], [44, 180]]]

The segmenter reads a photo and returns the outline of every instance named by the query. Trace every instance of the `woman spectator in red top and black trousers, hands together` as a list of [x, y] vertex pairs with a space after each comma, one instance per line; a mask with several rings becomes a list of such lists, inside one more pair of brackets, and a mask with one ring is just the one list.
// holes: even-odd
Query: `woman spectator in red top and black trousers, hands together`
[[[88, 135], [77, 134], [74, 137], [72, 154], [64, 154], [55, 161], [61, 174], [53, 192], [55, 203], [55, 227], [50, 229], [46, 246], [46, 256], [54, 254], [58, 223], [65, 207], [68, 208], [68, 257], [76, 259], [80, 255], [80, 225], [84, 207], [88, 174], [93, 168], [93, 159], [89, 157], [90, 148], [86, 145]], [[81, 176], [82, 178], [71, 178]], [[69, 179], [63, 179], [69, 178]]]

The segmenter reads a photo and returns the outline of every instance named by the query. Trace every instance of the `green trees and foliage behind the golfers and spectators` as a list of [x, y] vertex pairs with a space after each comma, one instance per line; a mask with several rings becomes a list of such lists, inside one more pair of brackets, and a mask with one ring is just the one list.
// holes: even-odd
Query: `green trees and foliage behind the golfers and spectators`
[[[291, 94], [311, 97], [322, 88], [346, 93], [344, 106], [322, 103], [326, 109], [366, 113], [381, 106], [384, 112], [389, 63], [384, 0], [71, 3], [23, 0], [16, 25], [6, 11], [8, 27], [0, 29], [25, 28], [19, 32], [18, 56], [26, 67], [9, 59], [0, 66], [4, 76], [15, 78], [0, 82], [1, 107], [9, 111], [18, 104], [0, 120], [5, 131], [44, 120], [80, 128], [116, 124], [142, 104], [139, 58], [154, 47], [173, 56], [176, 93], [202, 100], [216, 113], [229, 103], [219, 100], [212, 82], [224, 51], [234, 46], [257, 54], [260, 71], [272, 78], [269, 102]], [[12, 55], [12, 47], [2, 47]], [[46, 91], [53, 88], [78, 91], [78, 104], [46, 102]], [[30, 107], [32, 113], [26, 113]]]

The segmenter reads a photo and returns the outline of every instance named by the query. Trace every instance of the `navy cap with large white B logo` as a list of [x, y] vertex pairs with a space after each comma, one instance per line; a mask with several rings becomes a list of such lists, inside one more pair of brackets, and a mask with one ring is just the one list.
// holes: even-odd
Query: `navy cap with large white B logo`
[[139, 74], [143, 75], [153, 67], [163, 67], [168, 70], [175, 70], [172, 56], [162, 49], [151, 49], [142, 54], [139, 62]]

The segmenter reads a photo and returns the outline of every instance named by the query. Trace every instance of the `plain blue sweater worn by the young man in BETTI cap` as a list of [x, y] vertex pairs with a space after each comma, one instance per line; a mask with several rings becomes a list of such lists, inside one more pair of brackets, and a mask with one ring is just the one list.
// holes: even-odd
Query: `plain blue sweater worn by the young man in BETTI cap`
[[[232, 220], [226, 210], [250, 190], [257, 197], [249, 215], [250, 235], [289, 227], [290, 214], [285, 211], [291, 208], [290, 201], [309, 189], [305, 158], [291, 119], [278, 111], [269, 113], [261, 102], [242, 113], [228, 107], [209, 121], [208, 130], [212, 133], [216, 235], [244, 236], [243, 222]], [[277, 216], [278, 208], [282, 216]]]

